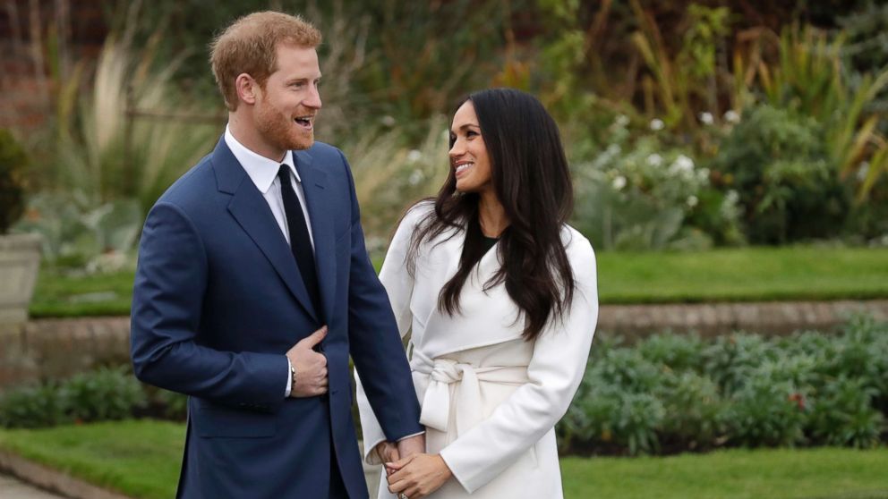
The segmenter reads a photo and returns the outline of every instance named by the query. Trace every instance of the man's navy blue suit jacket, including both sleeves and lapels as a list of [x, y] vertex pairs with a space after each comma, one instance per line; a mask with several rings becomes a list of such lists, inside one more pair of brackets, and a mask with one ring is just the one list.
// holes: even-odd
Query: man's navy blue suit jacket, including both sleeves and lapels
[[[225, 140], [166, 190], [145, 222], [132, 362], [142, 381], [190, 395], [180, 497], [326, 499], [331, 457], [348, 495], [366, 497], [349, 353], [387, 436], [423, 429], [346, 158], [322, 143], [294, 158], [312, 219], [320, 310]], [[329, 394], [285, 398], [286, 351], [325, 324]]]

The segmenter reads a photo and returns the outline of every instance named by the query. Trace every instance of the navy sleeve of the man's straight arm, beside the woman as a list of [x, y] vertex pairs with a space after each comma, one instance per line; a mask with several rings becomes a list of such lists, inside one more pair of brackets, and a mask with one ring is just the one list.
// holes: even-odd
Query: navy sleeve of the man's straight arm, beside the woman
[[358, 382], [358, 404], [363, 408], [362, 423], [364, 414], [371, 414], [374, 421], [368, 423], [368, 427], [373, 427], [373, 431], [379, 435], [370, 440], [365, 438], [364, 444], [372, 449], [375, 445], [373, 439], [376, 439], [376, 444], [382, 439], [397, 441], [422, 432], [423, 427], [419, 424], [419, 401], [416, 400], [410, 366], [398, 335], [392, 306], [364, 247], [354, 185], [351, 186], [351, 202], [348, 337]]

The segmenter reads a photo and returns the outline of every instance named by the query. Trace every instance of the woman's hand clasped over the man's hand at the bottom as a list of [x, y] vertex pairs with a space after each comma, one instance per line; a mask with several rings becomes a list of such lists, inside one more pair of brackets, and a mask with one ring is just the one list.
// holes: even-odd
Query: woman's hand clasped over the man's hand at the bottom
[[414, 454], [400, 461], [386, 462], [386, 472], [388, 491], [409, 499], [421, 499], [430, 495], [453, 476], [440, 454], [425, 453]]

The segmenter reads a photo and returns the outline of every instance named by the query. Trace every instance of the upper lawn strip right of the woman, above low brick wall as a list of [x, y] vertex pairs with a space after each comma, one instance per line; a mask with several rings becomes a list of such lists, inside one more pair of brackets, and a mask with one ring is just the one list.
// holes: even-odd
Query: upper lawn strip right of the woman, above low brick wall
[[888, 249], [744, 248], [602, 253], [602, 303], [888, 297]]

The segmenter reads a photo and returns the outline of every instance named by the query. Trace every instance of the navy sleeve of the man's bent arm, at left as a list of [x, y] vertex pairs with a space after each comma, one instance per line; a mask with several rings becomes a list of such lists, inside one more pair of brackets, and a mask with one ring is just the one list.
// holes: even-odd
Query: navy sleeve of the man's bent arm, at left
[[284, 402], [286, 357], [218, 351], [195, 342], [208, 263], [182, 208], [160, 202], [145, 221], [132, 290], [131, 354], [145, 383], [242, 409]]

